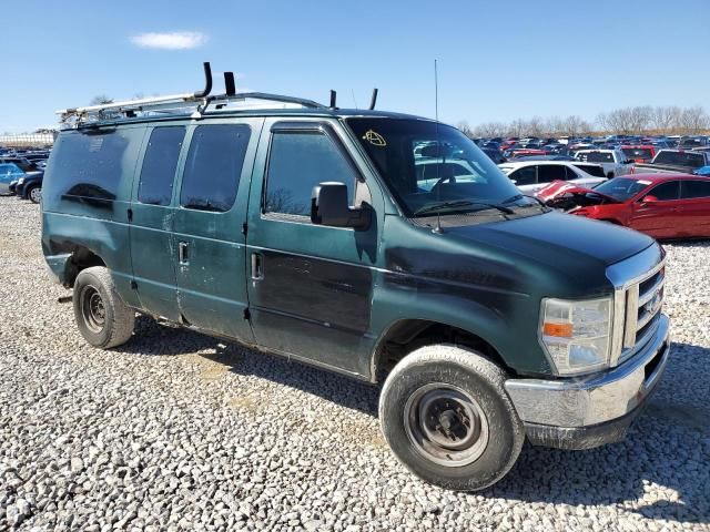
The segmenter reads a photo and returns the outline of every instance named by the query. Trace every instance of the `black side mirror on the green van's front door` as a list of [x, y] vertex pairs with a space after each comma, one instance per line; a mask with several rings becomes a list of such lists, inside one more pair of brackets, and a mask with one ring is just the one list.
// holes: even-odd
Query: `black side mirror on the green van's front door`
[[311, 194], [311, 222], [331, 227], [367, 229], [372, 209], [364, 205], [353, 208], [347, 203], [345, 183], [326, 182], [313, 187]]

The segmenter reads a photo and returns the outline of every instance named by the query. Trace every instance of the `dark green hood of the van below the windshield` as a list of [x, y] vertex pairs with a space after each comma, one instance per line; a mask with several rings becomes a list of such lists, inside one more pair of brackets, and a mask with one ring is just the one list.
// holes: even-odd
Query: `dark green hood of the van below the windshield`
[[521, 254], [557, 269], [567, 269], [566, 264], [571, 267], [572, 262], [578, 260], [610, 266], [642, 252], [655, 242], [632, 229], [559, 212], [452, 227], [445, 234]]

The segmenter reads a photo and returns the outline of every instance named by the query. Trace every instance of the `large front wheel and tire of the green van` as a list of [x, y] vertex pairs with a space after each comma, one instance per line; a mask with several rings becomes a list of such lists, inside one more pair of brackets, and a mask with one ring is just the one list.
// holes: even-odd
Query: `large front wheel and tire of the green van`
[[390, 449], [413, 473], [442, 488], [495, 484], [525, 440], [505, 380], [498, 366], [469, 349], [434, 345], [412, 352], [389, 374], [379, 399]]

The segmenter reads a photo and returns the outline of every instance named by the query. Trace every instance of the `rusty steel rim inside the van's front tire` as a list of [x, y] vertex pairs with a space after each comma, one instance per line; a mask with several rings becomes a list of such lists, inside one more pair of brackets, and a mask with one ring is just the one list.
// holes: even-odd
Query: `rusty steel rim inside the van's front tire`
[[416, 390], [405, 405], [404, 427], [415, 449], [440, 466], [475, 462], [488, 444], [488, 420], [480, 406], [453, 385]]

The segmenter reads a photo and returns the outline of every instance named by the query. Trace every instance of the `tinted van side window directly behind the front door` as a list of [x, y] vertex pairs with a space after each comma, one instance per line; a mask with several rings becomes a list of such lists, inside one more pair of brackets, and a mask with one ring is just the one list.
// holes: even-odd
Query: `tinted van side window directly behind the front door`
[[180, 191], [183, 207], [217, 213], [232, 208], [250, 136], [245, 124], [195, 127]]

